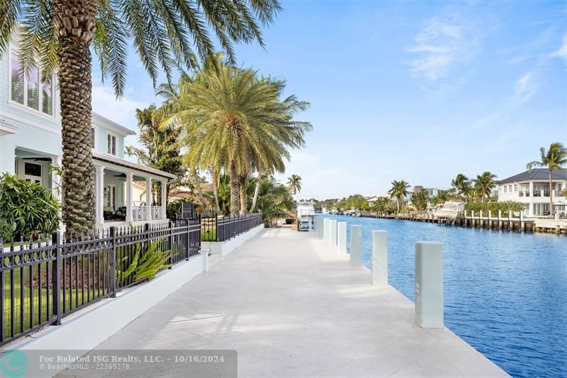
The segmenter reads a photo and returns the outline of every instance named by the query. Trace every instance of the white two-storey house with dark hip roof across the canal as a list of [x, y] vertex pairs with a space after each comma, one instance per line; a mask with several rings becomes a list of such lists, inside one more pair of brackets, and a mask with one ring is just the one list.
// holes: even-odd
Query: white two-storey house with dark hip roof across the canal
[[[565, 211], [563, 189], [567, 187], [567, 170], [554, 169], [551, 194], [555, 211]], [[549, 215], [549, 169], [531, 169], [498, 182], [498, 201], [517, 201], [526, 206], [526, 216]], [[555, 207], [555, 206], [554, 206]]]

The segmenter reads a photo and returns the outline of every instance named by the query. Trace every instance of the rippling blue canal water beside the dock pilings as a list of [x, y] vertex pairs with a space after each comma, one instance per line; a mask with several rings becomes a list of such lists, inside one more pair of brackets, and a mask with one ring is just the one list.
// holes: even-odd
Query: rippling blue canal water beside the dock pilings
[[415, 242], [443, 243], [445, 325], [512, 377], [567, 377], [567, 237], [324, 216], [388, 231], [390, 284], [414, 300]]

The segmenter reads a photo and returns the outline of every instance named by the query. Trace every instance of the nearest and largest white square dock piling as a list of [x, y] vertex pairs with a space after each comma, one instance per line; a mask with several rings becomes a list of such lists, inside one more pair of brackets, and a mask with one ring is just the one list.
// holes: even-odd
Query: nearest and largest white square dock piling
[[415, 243], [415, 323], [443, 328], [442, 243]]

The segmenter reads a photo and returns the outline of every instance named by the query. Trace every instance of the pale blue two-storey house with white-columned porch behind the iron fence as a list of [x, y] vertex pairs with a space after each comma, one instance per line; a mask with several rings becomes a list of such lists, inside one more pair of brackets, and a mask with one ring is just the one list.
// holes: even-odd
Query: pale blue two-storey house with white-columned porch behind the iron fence
[[[37, 182], [58, 196], [60, 179], [48, 168], [60, 166], [62, 157], [56, 77], [42, 82], [38, 67], [21, 74], [16, 39], [0, 57], [0, 173]], [[124, 138], [135, 135], [133, 130], [93, 113], [92, 133], [97, 226], [116, 221], [163, 221], [165, 195], [158, 206], [151, 206], [151, 191], [140, 202], [133, 190], [135, 182], [145, 182], [145, 187], [152, 182], [164, 185], [174, 175], [124, 159]]]

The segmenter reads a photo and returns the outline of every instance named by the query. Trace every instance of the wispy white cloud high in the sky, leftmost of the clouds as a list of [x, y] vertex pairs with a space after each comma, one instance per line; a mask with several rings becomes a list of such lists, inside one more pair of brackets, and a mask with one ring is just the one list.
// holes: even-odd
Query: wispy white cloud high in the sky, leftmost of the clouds
[[424, 23], [406, 51], [417, 55], [411, 72], [415, 77], [436, 81], [452, 67], [467, 62], [479, 48], [474, 28], [460, 16], [435, 16]]

